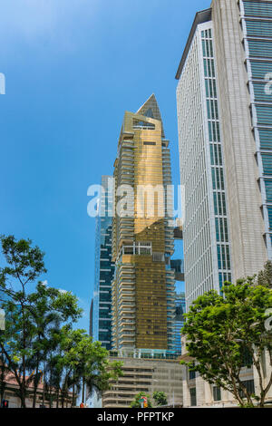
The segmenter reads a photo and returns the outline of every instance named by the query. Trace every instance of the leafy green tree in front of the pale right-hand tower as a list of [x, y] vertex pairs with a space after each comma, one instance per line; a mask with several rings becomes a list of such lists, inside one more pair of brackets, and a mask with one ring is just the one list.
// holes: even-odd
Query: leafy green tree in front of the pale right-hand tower
[[[190, 306], [181, 333], [186, 336], [192, 361], [181, 363], [231, 392], [241, 407], [256, 402], [263, 407], [272, 385], [271, 332], [265, 327], [272, 292], [268, 286], [258, 285], [256, 277], [238, 280], [236, 285], [225, 283], [222, 292], [210, 291]], [[261, 366], [265, 351], [271, 367], [267, 384]], [[246, 361], [248, 354], [251, 361]], [[240, 378], [241, 369], [252, 363], [260, 388], [257, 395], [250, 394]]]

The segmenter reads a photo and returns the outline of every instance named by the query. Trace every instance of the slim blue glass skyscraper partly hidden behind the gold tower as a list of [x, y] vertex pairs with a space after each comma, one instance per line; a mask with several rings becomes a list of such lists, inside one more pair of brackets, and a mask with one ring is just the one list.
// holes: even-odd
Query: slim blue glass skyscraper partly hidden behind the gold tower
[[[91, 305], [92, 339], [112, 349], [112, 178], [102, 176], [95, 228], [95, 276]], [[91, 333], [90, 333], [91, 334]]]

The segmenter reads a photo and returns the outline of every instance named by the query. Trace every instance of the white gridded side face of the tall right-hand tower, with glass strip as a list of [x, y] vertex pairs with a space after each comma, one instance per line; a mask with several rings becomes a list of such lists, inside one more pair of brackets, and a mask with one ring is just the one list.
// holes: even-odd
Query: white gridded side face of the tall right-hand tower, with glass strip
[[211, 10], [194, 21], [177, 73], [187, 305], [231, 279], [228, 204]]

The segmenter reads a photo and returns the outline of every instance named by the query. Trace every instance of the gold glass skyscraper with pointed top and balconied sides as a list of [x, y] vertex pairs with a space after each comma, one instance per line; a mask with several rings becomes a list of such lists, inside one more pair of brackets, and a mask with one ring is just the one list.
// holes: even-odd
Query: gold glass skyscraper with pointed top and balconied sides
[[[115, 349], [165, 353], [174, 350], [175, 278], [169, 140], [151, 95], [136, 113], [125, 112], [114, 163], [115, 207], [112, 224], [112, 344]], [[159, 188], [151, 199], [148, 189]], [[118, 214], [127, 191], [127, 214]], [[131, 193], [132, 189], [132, 193]], [[142, 202], [139, 195], [143, 191]], [[167, 199], [166, 199], [167, 198]], [[171, 195], [170, 195], [171, 198]], [[154, 208], [150, 214], [148, 205]]]

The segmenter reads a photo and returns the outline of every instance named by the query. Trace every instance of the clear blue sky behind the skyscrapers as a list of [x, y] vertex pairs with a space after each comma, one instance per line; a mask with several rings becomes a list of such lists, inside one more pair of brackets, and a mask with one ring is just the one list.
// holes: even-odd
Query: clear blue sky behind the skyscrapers
[[[46, 253], [89, 327], [94, 219], [87, 189], [112, 174], [124, 111], [152, 92], [179, 182], [175, 73], [209, 0], [0, 0], [0, 234]], [[179, 257], [179, 253], [175, 255]]]

